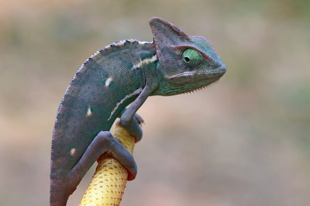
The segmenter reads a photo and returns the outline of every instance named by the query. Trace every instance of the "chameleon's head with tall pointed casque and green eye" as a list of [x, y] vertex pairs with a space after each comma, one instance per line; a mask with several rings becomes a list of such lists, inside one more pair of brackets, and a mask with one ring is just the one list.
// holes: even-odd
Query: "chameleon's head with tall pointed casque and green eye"
[[217, 82], [226, 66], [213, 46], [203, 37], [189, 37], [168, 21], [150, 19], [156, 55], [159, 86], [152, 95], [190, 92]]

